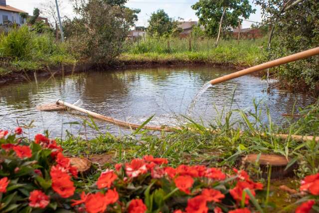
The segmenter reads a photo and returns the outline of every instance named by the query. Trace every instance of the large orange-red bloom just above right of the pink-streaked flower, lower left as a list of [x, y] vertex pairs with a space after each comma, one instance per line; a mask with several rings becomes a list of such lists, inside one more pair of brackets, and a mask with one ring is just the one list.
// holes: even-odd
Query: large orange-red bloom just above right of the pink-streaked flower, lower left
[[67, 174], [61, 173], [62, 176], [53, 178], [52, 176], [52, 189], [59, 194], [62, 198], [69, 198], [74, 195], [75, 187], [70, 180], [71, 177]]

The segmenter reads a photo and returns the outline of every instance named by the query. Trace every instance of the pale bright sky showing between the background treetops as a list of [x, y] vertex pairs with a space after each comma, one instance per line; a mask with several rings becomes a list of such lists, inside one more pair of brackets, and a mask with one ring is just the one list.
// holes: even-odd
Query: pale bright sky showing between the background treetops
[[[16, 7], [18, 9], [22, 9], [29, 14], [32, 14], [34, 7], [39, 7], [40, 3], [54, 1], [54, 0], [6, 0], [6, 3], [10, 6]], [[188, 20], [198, 20], [195, 15], [195, 11], [191, 9], [191, 5], [193, 5], [197, 0], [129, 0], [126, 3], [126, 6], [130, 8], [140, 8], [141, 12], [138, 15], [139, 21], [136, 23], [137, 26], [147, 26], [148, 19], [152, 12], [158, 9], [164, 9], [165, 12], [170, 16], [177, 19], [178, 17], [183, 18], [185, 21]], [[256, 7], [253, 3], [253, 0], [250, 0], [253, 8], [256, 8], [257, 11], [255, 14], [252, 14], [249, 17], [249, 20], [252, 21], [261, 21], [261, 11], [259, 7]], [[60, 9], [61, 16], [72, 17], [72, 5], [68, 0], [62, 0], [63, 7]], [[243, 21], [243, 28], [250, 27], [252, 22]]]

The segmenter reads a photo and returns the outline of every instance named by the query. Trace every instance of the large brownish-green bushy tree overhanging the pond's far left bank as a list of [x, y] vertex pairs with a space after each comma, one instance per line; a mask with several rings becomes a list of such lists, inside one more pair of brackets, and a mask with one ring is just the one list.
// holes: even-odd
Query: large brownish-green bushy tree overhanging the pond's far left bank
[[[111, 63], [122, 52], [129, 30], [138, 20], [139, 9], [130, 9], [125, 0], [74, 0], [77, 16], [67, 21], [74, 52], [95, 63]], [[70, 31], [71, 30], [71, 31]]]

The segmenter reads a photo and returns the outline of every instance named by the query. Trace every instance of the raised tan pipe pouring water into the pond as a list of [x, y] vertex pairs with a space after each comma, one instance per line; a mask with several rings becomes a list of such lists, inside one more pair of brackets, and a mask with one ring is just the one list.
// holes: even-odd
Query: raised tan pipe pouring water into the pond
[[210, 81], [210, 84], [212, 84], [212, 85], [218, 84], [218, 83], [221, 83], [221, 82], [224, 82], [224, 81], [228, 81], [228, 80], [231, 80], [231, 79], [234, 79], [234, 78], [238, 78], [238, 77], [241, 77], [241, 76], [253, 73], [253, 72], [257, 72], [257, 71], [261, 71], [261, 70], [264, 70], [264, 69], [272, 68], [272, 67], [275, 67], [275, 66], [279, 66], [279, 65], [286, 64], [286, 63], [289, 63], [289, 62], [293, 62], [293, 61], [297, 61], [297, 60], [300, 60], [300, 59], [308, 58], [308, 57], [311, 57], [311, 56], [314, 56], [314, 55], [318, 55], [318, 54], [319, 54], [319, 47], [316, 47], [316, 48], [313, 48], [313, 49], [309, 49], [309, 50], [306, 50], [306, 51], [303, 51], [303, 52], [299, 52], [299, 53], [296, 53], [296, 54], [293, 54], [293, 55], [289, 55], [289, 56], [286, 56], [286, 57], [283, 57], [283, 58], [279, 58], [279, 59], [276, 59], [276, 60], [273, 60], [273, 61], [268, 61], [266, 63], [250, 67], [248, 69], [244, 69], [244, 70], [241, 70], [241, 71], [238, 71], [238, 72], [231, 73], [229, 75], [225, 75], [225, 76], [213, 79], [213, 80]]

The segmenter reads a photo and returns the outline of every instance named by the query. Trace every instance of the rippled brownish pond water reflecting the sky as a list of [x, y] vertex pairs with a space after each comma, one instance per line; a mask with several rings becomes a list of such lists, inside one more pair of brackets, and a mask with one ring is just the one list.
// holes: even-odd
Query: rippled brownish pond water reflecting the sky
[[[155, 115], [149, 124], [179, 125], [181, 115], [208, 125], [224, 109], [253, 110], [253, 99], [262, 101], [262, 120], [267, 122], [269, 108], [273, 121], [280, 123], [282, 114], [291, 113], [293, 106], [303, 107], [314, 100], [299, 93], [272, 89], [267, 81], [252, 75], [243, 76], [208, 88], [189, 106], [200, 88], [209, 80], [234, 72], [233, 69], [211, 67], [154, 68], [125, 71], [91, 71], [66, 77], [38, 79], [26, 83], [12, 83], [0, 87], [0, 129], [14, 129], [28, 125], [26, 133], [49, 130], [51, 137], [64, 137], [66, 131], [74, 135], [93, 137], [97, 130], [83, 125], [86, 116], [76, 112], [39, 112], [37, 105], [62, 99], [74, 103], [81, 99], [81, 107], [106, 116], [143, 123]], [[217, 111], [217, 112], [216, 112]], [[233, 119], [236, 119], [234, 114]], [[100, 131], [115, 135], [130, 131], [94, 120]]]

